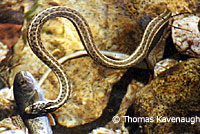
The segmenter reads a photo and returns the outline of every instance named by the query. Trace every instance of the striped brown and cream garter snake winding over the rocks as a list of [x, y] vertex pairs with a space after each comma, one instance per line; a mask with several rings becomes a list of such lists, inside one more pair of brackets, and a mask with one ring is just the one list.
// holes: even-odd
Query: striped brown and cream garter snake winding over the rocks
[[100, 52], [94, 43], [92, 32], [87, 21], [77, 11], [67, 7], [55, 6], [39, 13], [36, 17], [33, 18], [29, 25], [28, 42], [35, 55], [56, 74], [60, 83], [60, 93], [56, 100], [34, 103], [33, 105], [30, 105], [25, 110], [27, 113], [36, 114], [52, 112], [64, 104], [64, 102], [68, 99], [71, 91], [66, 73], [64, 72], [61, 65], [57, 62], [57, 60], [44, 48], [40, 38], [40, 32], [43, 24], [49, 19], [55, 17], [67, 18], [73, 23], [85, 49], [93, 60], [106, 67], [121, 69], [131, 67], [144, 59], [155, 36], [169, 21], [171, 13], [169, 10], [166, 10], [164, 13], [154, 18], [147, 25], [142, 41], [137, 49], [133, 52], [132, 55], [130, 55], [130, 57], [124, 60], [113, 60], [104, 56]]

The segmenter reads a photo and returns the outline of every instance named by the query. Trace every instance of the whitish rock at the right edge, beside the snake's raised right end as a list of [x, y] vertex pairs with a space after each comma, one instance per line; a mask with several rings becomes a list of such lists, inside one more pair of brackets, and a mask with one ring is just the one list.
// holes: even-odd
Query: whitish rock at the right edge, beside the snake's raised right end
[[200, 18], [195, 15], [176, 17], [172, 23], [172, 39], [179, 52], [200, 57]]

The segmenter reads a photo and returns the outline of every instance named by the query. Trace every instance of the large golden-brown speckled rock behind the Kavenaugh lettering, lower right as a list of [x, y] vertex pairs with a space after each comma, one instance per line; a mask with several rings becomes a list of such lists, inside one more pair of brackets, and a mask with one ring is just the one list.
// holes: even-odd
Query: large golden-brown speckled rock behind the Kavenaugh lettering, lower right
[[[180, 62], [158, 76], [151, 83], [136, 93], [134, 113], [136, 117], [153, 118], [140, 123], [145, 133], [197, 133], [200, 116], [200, 59], [189, 59]], [[163, 118], [195, 118], [189, 123], [169, 121]], [[166, 119], [165, 118], [165, 119]], [[194, 123], [194, 124], [193, 124]]]

